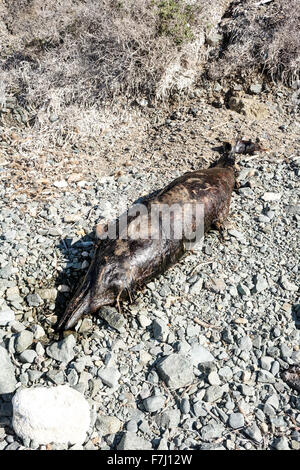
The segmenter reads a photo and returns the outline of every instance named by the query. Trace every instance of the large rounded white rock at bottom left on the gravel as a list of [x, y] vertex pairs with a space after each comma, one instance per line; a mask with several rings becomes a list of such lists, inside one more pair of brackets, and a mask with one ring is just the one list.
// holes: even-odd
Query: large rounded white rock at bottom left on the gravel
[[13, 428], [38, 444], [82, 444], [90, 425], [89, 405], [68, 385], [19, 389], [13, 398]]

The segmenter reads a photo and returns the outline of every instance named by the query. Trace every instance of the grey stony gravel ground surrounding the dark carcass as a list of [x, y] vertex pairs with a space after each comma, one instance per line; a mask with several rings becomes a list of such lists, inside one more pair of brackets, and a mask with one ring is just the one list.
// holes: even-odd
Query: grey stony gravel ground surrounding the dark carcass
[[[1, 450], [68, 448], [17, 437], [7, 393], [63, 384], [84, 394], [91, 409], [85, 442], [71, 448], [300, 449], [299, 392], [280, 377], [300, 363], [299, 123], [274, 112], [266, 133], [266, 122], [249, 124], [201, 100], [197, 107], [141, 130], [140, 156], [132, 154], [119, 173], [111, 137], [110, 172], [55, 175], [47, 200], [16, 192], [4, 162]], [[240, 162], [224, 239], [207, 234], [201, 250], [124, 303], [123, 316], [107, 307], [77, 325], [75, 341], [59, 337], [53, 325], [89, 265], [94, 225], [185, 170], [207, 166], [218, 155], [216, 136], [237, 131], [262, 135], [272, 151]], [[199, 161], [201, 142], [206, 161]]]

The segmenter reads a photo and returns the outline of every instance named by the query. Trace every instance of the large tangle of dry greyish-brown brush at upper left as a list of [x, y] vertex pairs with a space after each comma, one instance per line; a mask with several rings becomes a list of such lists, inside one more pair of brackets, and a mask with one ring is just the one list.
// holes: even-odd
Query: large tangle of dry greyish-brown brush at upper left
[[169, 8], [168, 19], [174, 0], [10, 0], [2, 15], [10, 33], [1, 41], [4, 79], [35, 107], [49, 106], [47, 98], [57, 107], [120, 93], [153, 97], [167, 64], [193, 37], [193, 9], [187, 15], [184, 2]]

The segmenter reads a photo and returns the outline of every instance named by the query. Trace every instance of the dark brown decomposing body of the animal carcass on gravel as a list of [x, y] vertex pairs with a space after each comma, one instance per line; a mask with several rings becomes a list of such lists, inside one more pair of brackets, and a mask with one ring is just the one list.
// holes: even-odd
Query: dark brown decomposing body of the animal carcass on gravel
[[[182, 210], [186, 203], [203, 204], [203, 232], [206, 232], [212, 226], [221, 227], [227, 218], [234, 185], [234, 156], [231, 151], [213, 167], [188, 172], [175, 179], [155, 196], [146, 197], [143, 205], [150, 214], [153, 205], [177, 204]], [[83, 315], [96, 313], [104, 305], [115, 303], [119, 306], [121, 298], [131, 299], [131, 294], [137, 289], [175, 264], [186, 251], [186, 240], [174, 236], [176, 223], [176, 213], [171, 213], [171, 236], [166, 238], [162, 236], [160, 223], [155, 225], [149, 216], [129, 216], [129, 237], [122, 239], [120, 218], [114, 222], [121, 233], [116, 239], [99, 243], [89, 270], [57, 328], [72, 328]], [[191, 218], [187, 228], [190, 232], [197, 230], [195, 217]], [[131, 238], [130, 234], [137, 229], [140, 229], [140, 238]], [[149, 237], [149, 233], [159, 236]]]

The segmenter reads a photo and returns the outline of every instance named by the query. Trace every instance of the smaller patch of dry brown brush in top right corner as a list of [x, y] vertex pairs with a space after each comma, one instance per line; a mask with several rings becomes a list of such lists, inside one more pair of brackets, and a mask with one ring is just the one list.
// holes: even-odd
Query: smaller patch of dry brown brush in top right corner
[[300, 77], [299, 0], [233, 2], [212, 78], [249, 81], [258, 73], [291, 85]]

